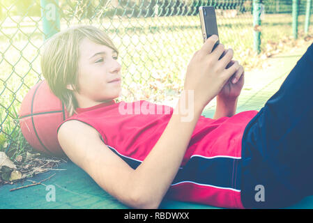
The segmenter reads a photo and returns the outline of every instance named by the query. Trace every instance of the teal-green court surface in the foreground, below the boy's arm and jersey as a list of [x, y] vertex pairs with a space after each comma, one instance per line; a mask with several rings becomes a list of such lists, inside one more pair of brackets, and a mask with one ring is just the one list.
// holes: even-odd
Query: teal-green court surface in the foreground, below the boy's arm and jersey
[[[52, 174], [49, 180], [43, 182], [45, 186], [54, 185], [55, 201], [47, 201], [50, 190], [46, 190], [44, 185], [26, 187], [10, 192], [12, 188], [20, 187], [22, 184], [3, 185], [0, 187], [0, 208], [103, 208], [103, 209], [126, 209], [129, 208], [117, 201], [111, 195], [101, 189], [85, 171], [77, 167], [72, 162], [60, 164], [57, 169], [38, 174], [29, 180], [39, 182]], [[25, 181], [24, 185], [31, 184]], [[49, 200], [49, 199], [48, 199]], [[213, 206], [206, 206], [198, 203], [188, 203], [181, 201], [163, 200], [160, 209], [211, 209]], [[306, 197], [300, 203], [290, 208], [313, 208], [313, 196]]]

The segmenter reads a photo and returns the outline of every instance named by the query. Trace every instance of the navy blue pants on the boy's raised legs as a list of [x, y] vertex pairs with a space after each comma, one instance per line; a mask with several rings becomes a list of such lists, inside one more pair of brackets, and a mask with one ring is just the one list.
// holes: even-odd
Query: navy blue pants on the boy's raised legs
[[245, 208], [283, 208], [313, 195], [313, 44], [247, 124], [240, 168]]

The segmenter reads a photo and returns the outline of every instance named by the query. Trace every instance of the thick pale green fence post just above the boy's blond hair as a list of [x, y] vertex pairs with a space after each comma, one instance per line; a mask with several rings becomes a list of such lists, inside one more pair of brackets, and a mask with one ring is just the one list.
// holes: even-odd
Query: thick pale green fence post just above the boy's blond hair
[[60, 31], [59, 0], [40, 0], [44, 40]]

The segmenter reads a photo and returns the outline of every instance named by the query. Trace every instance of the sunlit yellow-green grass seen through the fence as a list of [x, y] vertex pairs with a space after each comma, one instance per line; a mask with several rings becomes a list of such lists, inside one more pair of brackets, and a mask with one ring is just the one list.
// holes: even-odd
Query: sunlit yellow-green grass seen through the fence
[[[19, 20], [15, 18], [16, 22]], [[43, 79], [40, 75], [43, 33], [37, 28], [41, 24], [23, 21], [20, 29], [10, 20], [4, 21], [0, 29], [0, 151], [6, 151], [11, 160], [32, 151], [17, 118], [24, 95]], [[264, 55], [286, 52], [295, 43], [291, 37], [291, 15], [265, 15], [260, 55], [252, 48], [252, 15], [217, 17], [217, 22], [221, 43], [234, 49], [234, 59], [245, 70], [260, 66]], [[82, 23], [89, 24], [89, 20]], [[61, 21], [61, 29], [72, 24], [76, 22]], [[183, 90], [188, 63], [203, 44], [198, 16], [95, 20], [93, 25], [106, 28], [119, 49], [123, 75], [123, 96], [119, 100], [163, 103], [177, 97]], [[304, 37], [303, 26], [304, 15], [299, 16], [299, 38]]]

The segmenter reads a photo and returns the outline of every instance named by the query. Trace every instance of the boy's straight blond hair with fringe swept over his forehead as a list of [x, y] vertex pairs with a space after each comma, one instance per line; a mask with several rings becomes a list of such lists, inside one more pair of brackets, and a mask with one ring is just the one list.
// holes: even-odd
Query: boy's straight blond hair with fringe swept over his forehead
[[79, 93], [78, 86], [78, 59], [79, 43], [88, 38], [93, 43], [106, 45], [119, 50], [104, 31], [89, 25], [70, 27], [56, 33], [45, 42], [41, 56], [41, 70], [52, 93], [56, 95], [66, 106], [68, 116], [72, 116], [78, 107], [74, 93], [67, 89], [70, 84], [74, 91]]

